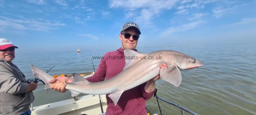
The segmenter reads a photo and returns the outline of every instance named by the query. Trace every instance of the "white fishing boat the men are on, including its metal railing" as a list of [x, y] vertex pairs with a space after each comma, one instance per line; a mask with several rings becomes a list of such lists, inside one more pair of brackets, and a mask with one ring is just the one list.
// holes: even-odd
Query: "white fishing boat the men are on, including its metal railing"
[[[90, 77], [93, 74], [89, 74], [86, 77]], [[157, 100], [160, 113], [159, 100], [162, 100], [168, 104], [178, 107], [181, 110], [181, 115], [184, 115], [184, 111], [191, 113], [192, 115], [200, 115], [192, 110], [189, 110], [179, 104], [173, 103], [165, 98], [157, 96], [157, 89], [155, 90], [154, 97]], [[74, 97], [74, 99], [68, 99], [58, 101], [54, 103], [44, 104], [41, 106], [33, 107], [31, 104], [31, 115], [105, 115], [107, 109], [106, 95], [85, 95], [81, 97]], [[148, 113], [149, 115], [149, 113]], [[153, 115], [158, 115], [157, 113]]]

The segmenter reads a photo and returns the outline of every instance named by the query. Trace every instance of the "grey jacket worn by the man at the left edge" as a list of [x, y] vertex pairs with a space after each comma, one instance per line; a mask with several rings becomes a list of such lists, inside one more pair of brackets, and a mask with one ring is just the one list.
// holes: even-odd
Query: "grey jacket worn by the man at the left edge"
[[34, 101], [24, 74], [14, 64], [0, 61], [0, 115], [20, 115]]

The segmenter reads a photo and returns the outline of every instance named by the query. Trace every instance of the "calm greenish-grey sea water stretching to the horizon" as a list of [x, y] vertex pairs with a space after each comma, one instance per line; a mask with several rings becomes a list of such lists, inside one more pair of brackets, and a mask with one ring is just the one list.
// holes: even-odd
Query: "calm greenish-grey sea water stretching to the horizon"
[[[157, 50], [175, 50], [194, 57], [204, 63], [203, 67], [181, 71], [182, 82], [179, 87], [158, 80], [158, 96], [171, 100], [202, 115], [255, 115], [256, 114], [256, 45], [223, 44], [191, 45], [155, 48], [138, 48], [148, 53]], [[49, 52], [17, 54], [13, 61], [21, 71], [32, 79], [30, 65], [42, 70], [56, 65], [53, 74], [72, 74], [93, 71], [92, 56], [103, 56], [104, 51]], [[100, 60], [93, 60], [98, 67]], [[35, 91], [34, 106], [66, 100], [70, 92], [59, 93], [54, 90], [43, 91], [40, 85]], [[47, 99], [46, 99], [47, 97]], [[42, 99], [43, 98], [43, 99]], [[160, 101], [163, 115], [180, 115], [180, 109]], [[157, 101], [152, 97], [147, 102], [151, 113], [158, 113]], [[186, 113], [185, 113], [186, 114]]]

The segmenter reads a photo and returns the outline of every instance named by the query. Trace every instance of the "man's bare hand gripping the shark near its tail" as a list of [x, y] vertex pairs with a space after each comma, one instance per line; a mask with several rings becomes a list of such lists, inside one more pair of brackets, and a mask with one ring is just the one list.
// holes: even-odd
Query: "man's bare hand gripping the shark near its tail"
[[69, 77], [57, 77], [49, 81], [49, 83], [53, 83], [50, 86], [50, 88], [58, 92], [66, 92], [67, 91], [67, 89], [65, 89], [66, 83], [72, 83], [72, 82], [73, 82], [73, 79]]

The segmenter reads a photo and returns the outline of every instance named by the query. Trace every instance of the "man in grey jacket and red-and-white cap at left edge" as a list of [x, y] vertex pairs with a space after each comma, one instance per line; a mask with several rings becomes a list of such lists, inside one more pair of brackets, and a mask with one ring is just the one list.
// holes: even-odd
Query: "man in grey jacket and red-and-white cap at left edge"
[[37, 83], [27, 83], [24, 74], [12, 63], [15, 48], [8, 39], [0, 38], [0, 115], [30, 115], [34, 101], [32, 90]]

